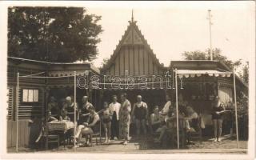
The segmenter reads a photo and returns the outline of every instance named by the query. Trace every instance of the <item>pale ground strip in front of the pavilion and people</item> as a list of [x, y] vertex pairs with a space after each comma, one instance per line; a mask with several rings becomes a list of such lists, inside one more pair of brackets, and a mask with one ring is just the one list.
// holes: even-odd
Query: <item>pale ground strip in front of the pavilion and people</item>
[[[18, 148], [19, 153], [62, 153], [62, 152], [84, 152], [84, 153], [149, 153], [149, 154], [178, 154], [178, 153], [216, 153], [216, 154], [246, 154], [247, 141], [239, 141], [239, 149], [235, 138], [226, 138], [222, 142], [213, 142], [210, 138], [203, 138], [202, 142], [192, 142], [191, 145], [186, 145], [185, 148], [178, 150], [170, 147], [162, 147], [158, 143], [154, 143], [151, 136], [134, 137], [130, 139], [128, 145], [121, 144], [122, 141], [114, 140], [109, 144], [96, 146], [82, 146], [75, 148], [72, 145], [66, 147], [52, 147], [49, 150], [38, 150], [30, 148]], [[9, 148], [9, 153], [14, 153], [15, 148]]]

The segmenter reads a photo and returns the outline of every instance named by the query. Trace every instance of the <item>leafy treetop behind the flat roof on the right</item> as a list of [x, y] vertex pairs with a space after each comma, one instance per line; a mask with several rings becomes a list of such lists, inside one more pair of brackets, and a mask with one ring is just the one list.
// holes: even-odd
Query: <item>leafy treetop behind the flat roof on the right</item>
[[[195, 51], [186, 51], [182, 54], [183, 58], [186, 60], [210, 60], [210, 49], [206, 50], [205, 52], [201, 50], [195, 50]], [[232, 62], [226, 56], [222, 55], [222, 50], [215, 48], [213, 50], [213, 58], [214, 60], [218, 60], [220, 62], [223, 62], [228, 66], [230, 69], [236, 69], [238, 66], [242, 64], [242, 59], [239, 59], [238, 61]]]

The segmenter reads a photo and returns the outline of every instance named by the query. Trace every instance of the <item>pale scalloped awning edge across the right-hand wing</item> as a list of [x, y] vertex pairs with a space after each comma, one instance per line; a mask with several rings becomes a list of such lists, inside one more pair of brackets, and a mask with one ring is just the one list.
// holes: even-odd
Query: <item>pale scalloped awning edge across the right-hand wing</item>
[[222, 72], [218, 70], [176, 70], [176, 74], [178, 75], [179, 78], [194, 78], [195, 76], [201, 77], [202, 74], [207, 74], [209, 76], [214, 77], [230, 77], [232, 72]]

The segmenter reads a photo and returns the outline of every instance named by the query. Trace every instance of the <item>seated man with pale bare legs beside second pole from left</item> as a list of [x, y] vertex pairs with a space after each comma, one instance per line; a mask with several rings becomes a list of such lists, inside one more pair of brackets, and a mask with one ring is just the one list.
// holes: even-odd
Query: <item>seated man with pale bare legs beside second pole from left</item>
[[88, 110], [90, 112], [90, 115], [87, 122], [83, 122], [82, 125], [78, 126], [78, 131], [77, 131], [77, 134], [75, 135], [75, 138], [78, 139], [78, 142], [82, 138], [82, 135], [86, 135], [86, 145], [89, 144], [89, 141], [87, 138], [88, 135], [94, 134], [94, 126], [98, 121], [100, 121], [100, 118], [96, 113], [94, 106], [90, 106]]

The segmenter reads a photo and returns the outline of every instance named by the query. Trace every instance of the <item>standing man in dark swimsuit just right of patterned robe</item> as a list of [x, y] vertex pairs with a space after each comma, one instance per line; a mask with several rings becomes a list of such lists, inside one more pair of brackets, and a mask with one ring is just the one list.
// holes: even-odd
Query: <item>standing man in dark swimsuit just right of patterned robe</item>
[[143, 134], [146, 134], [146, 122], [148, 118], [148, 110], [146, 102], [142, 102], [142, 96], [137, 96], [137, 102], [134, 104], [131, 117], [135, 119], [136, 134], [139, 135], [141, 127]]

